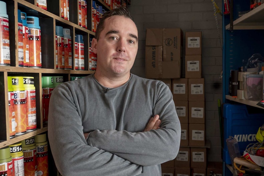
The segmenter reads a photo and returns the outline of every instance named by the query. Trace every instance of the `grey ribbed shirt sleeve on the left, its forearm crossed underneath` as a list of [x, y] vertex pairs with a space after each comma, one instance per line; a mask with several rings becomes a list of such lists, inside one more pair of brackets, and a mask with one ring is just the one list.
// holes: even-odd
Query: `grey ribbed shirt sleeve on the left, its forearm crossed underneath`
[[73, 96], [63, 84], [51, 95], [48, 139], [56, 167], [63, 176], [124, 176], [142, 172], [140, 165], [87, 145]]

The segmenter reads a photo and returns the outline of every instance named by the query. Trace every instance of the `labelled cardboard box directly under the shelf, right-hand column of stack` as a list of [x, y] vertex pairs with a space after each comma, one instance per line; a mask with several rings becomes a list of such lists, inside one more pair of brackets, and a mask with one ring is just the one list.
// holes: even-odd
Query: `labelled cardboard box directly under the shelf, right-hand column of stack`
[[191, 147], [191, 168], [203, 168], [206, 171], [206, 166], [206, 148]]

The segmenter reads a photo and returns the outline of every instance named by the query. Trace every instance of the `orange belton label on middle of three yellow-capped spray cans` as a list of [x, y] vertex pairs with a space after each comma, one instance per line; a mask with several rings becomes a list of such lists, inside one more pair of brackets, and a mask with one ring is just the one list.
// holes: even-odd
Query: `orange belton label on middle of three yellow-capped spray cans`
[[16, 119], [16, 134], [24, 134], [27, 131], [25, 91], [14, 91], [14, 106]]

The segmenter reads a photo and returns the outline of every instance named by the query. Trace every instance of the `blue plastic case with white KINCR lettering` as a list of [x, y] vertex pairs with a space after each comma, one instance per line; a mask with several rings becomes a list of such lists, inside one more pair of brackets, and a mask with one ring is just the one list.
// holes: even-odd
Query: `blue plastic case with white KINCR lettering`
[[[261, 109], [257, 109], [262, 111]], [[244, 104], [224, 104], [223, 107], [224, 118], [224, 149], [223, 161], [226, 164], [231, 164], [226, 145], [226, 139], [229, 136], [235, 137], [240, 154], [243, 155], [244, 150], [248, 144], [258, 142], [256, 140], [256, 133], [258, 128], [264, 123], [264, 110], [258, 113], [249, 113], [247, 106]]]

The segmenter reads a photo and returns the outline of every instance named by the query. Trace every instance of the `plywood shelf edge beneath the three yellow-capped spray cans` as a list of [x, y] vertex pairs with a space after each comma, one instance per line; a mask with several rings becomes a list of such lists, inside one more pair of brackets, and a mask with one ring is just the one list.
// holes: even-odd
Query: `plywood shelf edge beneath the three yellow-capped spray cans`
[[36, 136], [36, 135], [38, 135], [40, 133], [44, 133], [46, 131], [48, 131], [48, 127], [44, 127], [42, 129], [36, 129], [35, 131], [27, 132], [26, 134], [16, 135], [16, 137], [14, 137], [12, 139], [0, 142], [0, 148], [9, 146], [9, 145], [14, 144], [16, 142], [20, 142], [21, 140], [28, 139], [29, 137]]

